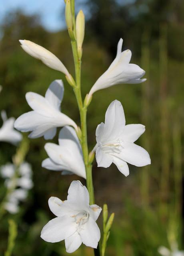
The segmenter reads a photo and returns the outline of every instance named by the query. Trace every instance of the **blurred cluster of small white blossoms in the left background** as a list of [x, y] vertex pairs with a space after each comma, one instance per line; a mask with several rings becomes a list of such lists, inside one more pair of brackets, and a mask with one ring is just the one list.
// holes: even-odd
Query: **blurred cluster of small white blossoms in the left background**
[[15, 165], [7, 163], [0, 167], [0, 175], [5, 179], [7, 195], [3, 203], [4, 209], [14, 214], [19, 211], [20, 201], [28, 196], [28, 191], [33, 187], [32, 168], [29, 163], [22, 163], [18, 169]]

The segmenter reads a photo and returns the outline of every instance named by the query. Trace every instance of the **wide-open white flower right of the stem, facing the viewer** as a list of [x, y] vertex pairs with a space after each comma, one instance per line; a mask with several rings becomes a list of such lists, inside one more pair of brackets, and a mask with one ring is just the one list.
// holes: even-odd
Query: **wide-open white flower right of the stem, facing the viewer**
[[[106, 111], [105, 123], [96, 128], [96, 161], [98, 167], [114, 163], [125, 176], [129, 175], [127, 163], [138, 167], [150, 165], [148, 152], [134, 144], [145, 131], [142, 124], [125, 125], [121, 102], [114, 100]], [[127, 162], [127, 163], [126, 163]]]

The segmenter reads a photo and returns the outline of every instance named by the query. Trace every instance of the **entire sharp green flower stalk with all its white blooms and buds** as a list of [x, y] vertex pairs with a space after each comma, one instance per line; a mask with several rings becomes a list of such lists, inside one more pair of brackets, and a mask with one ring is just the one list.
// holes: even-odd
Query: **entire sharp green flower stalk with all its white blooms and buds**
[[[27, 40], [20, 40], [20, 43], [22, 49], [29, 55], [40, 59], [48, 67], [66, 75], [66, 80], [72, 86], [76, 96], [80, 113], [80, 126], [77, 126], [68, 116], [61, 115], [60, 103], [64, 87], [62, 81], [55, 80], [48, 88], [45, 98], [37, 93], [30, 92], [26, 94], [26, 100], [33, 111], [20, 116], [15, 122], [15, 127], [22, 132], [32, 131], [30, 138], [44, 136], [45, 139], [49, 139], [56, 135], [57, 127], [66, 126], [60, 131], [60, 145], [46, 144], [45, 149], [49, 158], [43, 161], [42, 166], [50, 170], [63, 171], [63, 174], [76, 173], [81, 177], [86, 177], [87, 190], [79, 181], [73, 181], [68, 190], [67, 200], [49, 199], [49, 207], [57, 217], [46, 224], [42, 230], [41, 238], [46, 242], [65, 240], [67, 252], [74, 252], [83, 243], [94, 248], [95, 256], [104, 256], [110, 228], [114, 220], [114, 213], [108, 217], [107, 205], [104, 205], [103, 234], [101, 234], [102, 246], [100, 248], [98, 245], [100, 230], [96, 225], [96, 220], [100, 214], [101, 207], [95, 205], [92, 179], [92, 163], [95, 152], [98, 167], [107, 168], [114, 163], [125, 176], [129, 175], [127, 163], [142, 167], [150, 165], [151, 162], [148, 152], [141, 146], [134, 144], [144, 133], [145, 126], [142, 124], [126, 124], [122, 104], [117, 100], [114, 100], [109, 105], [105, 114], [105, 122], [97, 126], [97, 144], [89, 152], [86, 123], [87, 110], [93, 93], [119, 83], [144, 82], [146, 79], [141, 77], [145, 74], [145, 71], [138, 65], [130, 63], [132, 53], [130, 50], [122, 51], [123, 40], [120, 39], [117, 45], [116, 58], [107, 71], [94, 83], [83, 100], [81, 95], [81, 59], [85, 17], [82, 10], [75, 17], [74, 0], [65, 0], [65, 4], [66, 25], [71, 39], [75, 79], [63, 63], [44, 47]], [[37, 119], [34, 118], [35, 115], [38, 117]], [[59, 117], [60, 122], [58, 122]], [[28, 122], [26, 122], [27, 118]], [[73, 128], [69, 127], [69, 125], [73, 126]], [[77, 140], [75, 132], [78, 136]], [[78, 140], [81, 146], [78, 145]], [[78, 170], [79, 168], [81, 170]], [[81, 189], [85, 193], [81, 192]]]

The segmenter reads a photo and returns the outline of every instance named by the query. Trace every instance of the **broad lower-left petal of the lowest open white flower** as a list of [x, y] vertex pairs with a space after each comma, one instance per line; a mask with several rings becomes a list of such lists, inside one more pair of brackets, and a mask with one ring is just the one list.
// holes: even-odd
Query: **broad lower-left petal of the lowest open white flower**
[[51, 219], [42, 229], [41, 238], [46, 242], [56, 243], [71, 236], [76, 231], [74, 218], [64, 215]]

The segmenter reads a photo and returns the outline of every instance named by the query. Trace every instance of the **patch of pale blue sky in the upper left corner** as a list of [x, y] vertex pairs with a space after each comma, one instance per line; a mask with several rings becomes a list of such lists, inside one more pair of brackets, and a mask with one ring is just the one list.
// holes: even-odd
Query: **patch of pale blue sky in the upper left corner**
[[40, 14], [42, 24], [48, 30], [57, 31], [65, 26], [64, 18], [61, 17], [64, 0], [0, 0], [0, 21], [7, 12], [17, 8], [26, 14]]

